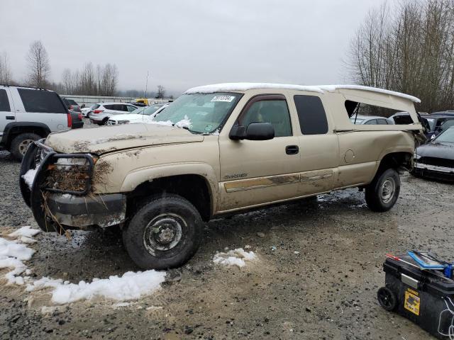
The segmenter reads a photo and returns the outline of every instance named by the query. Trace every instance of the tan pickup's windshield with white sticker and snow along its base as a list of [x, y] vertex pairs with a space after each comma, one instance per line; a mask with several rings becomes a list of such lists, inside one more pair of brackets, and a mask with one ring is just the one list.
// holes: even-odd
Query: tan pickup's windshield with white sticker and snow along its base
[[184, 121], [192, 132], [215, 132], [240, 98], [240, 94], [232, 93], [184, 94], [159, 113], [155, 121], [172, 124]]

